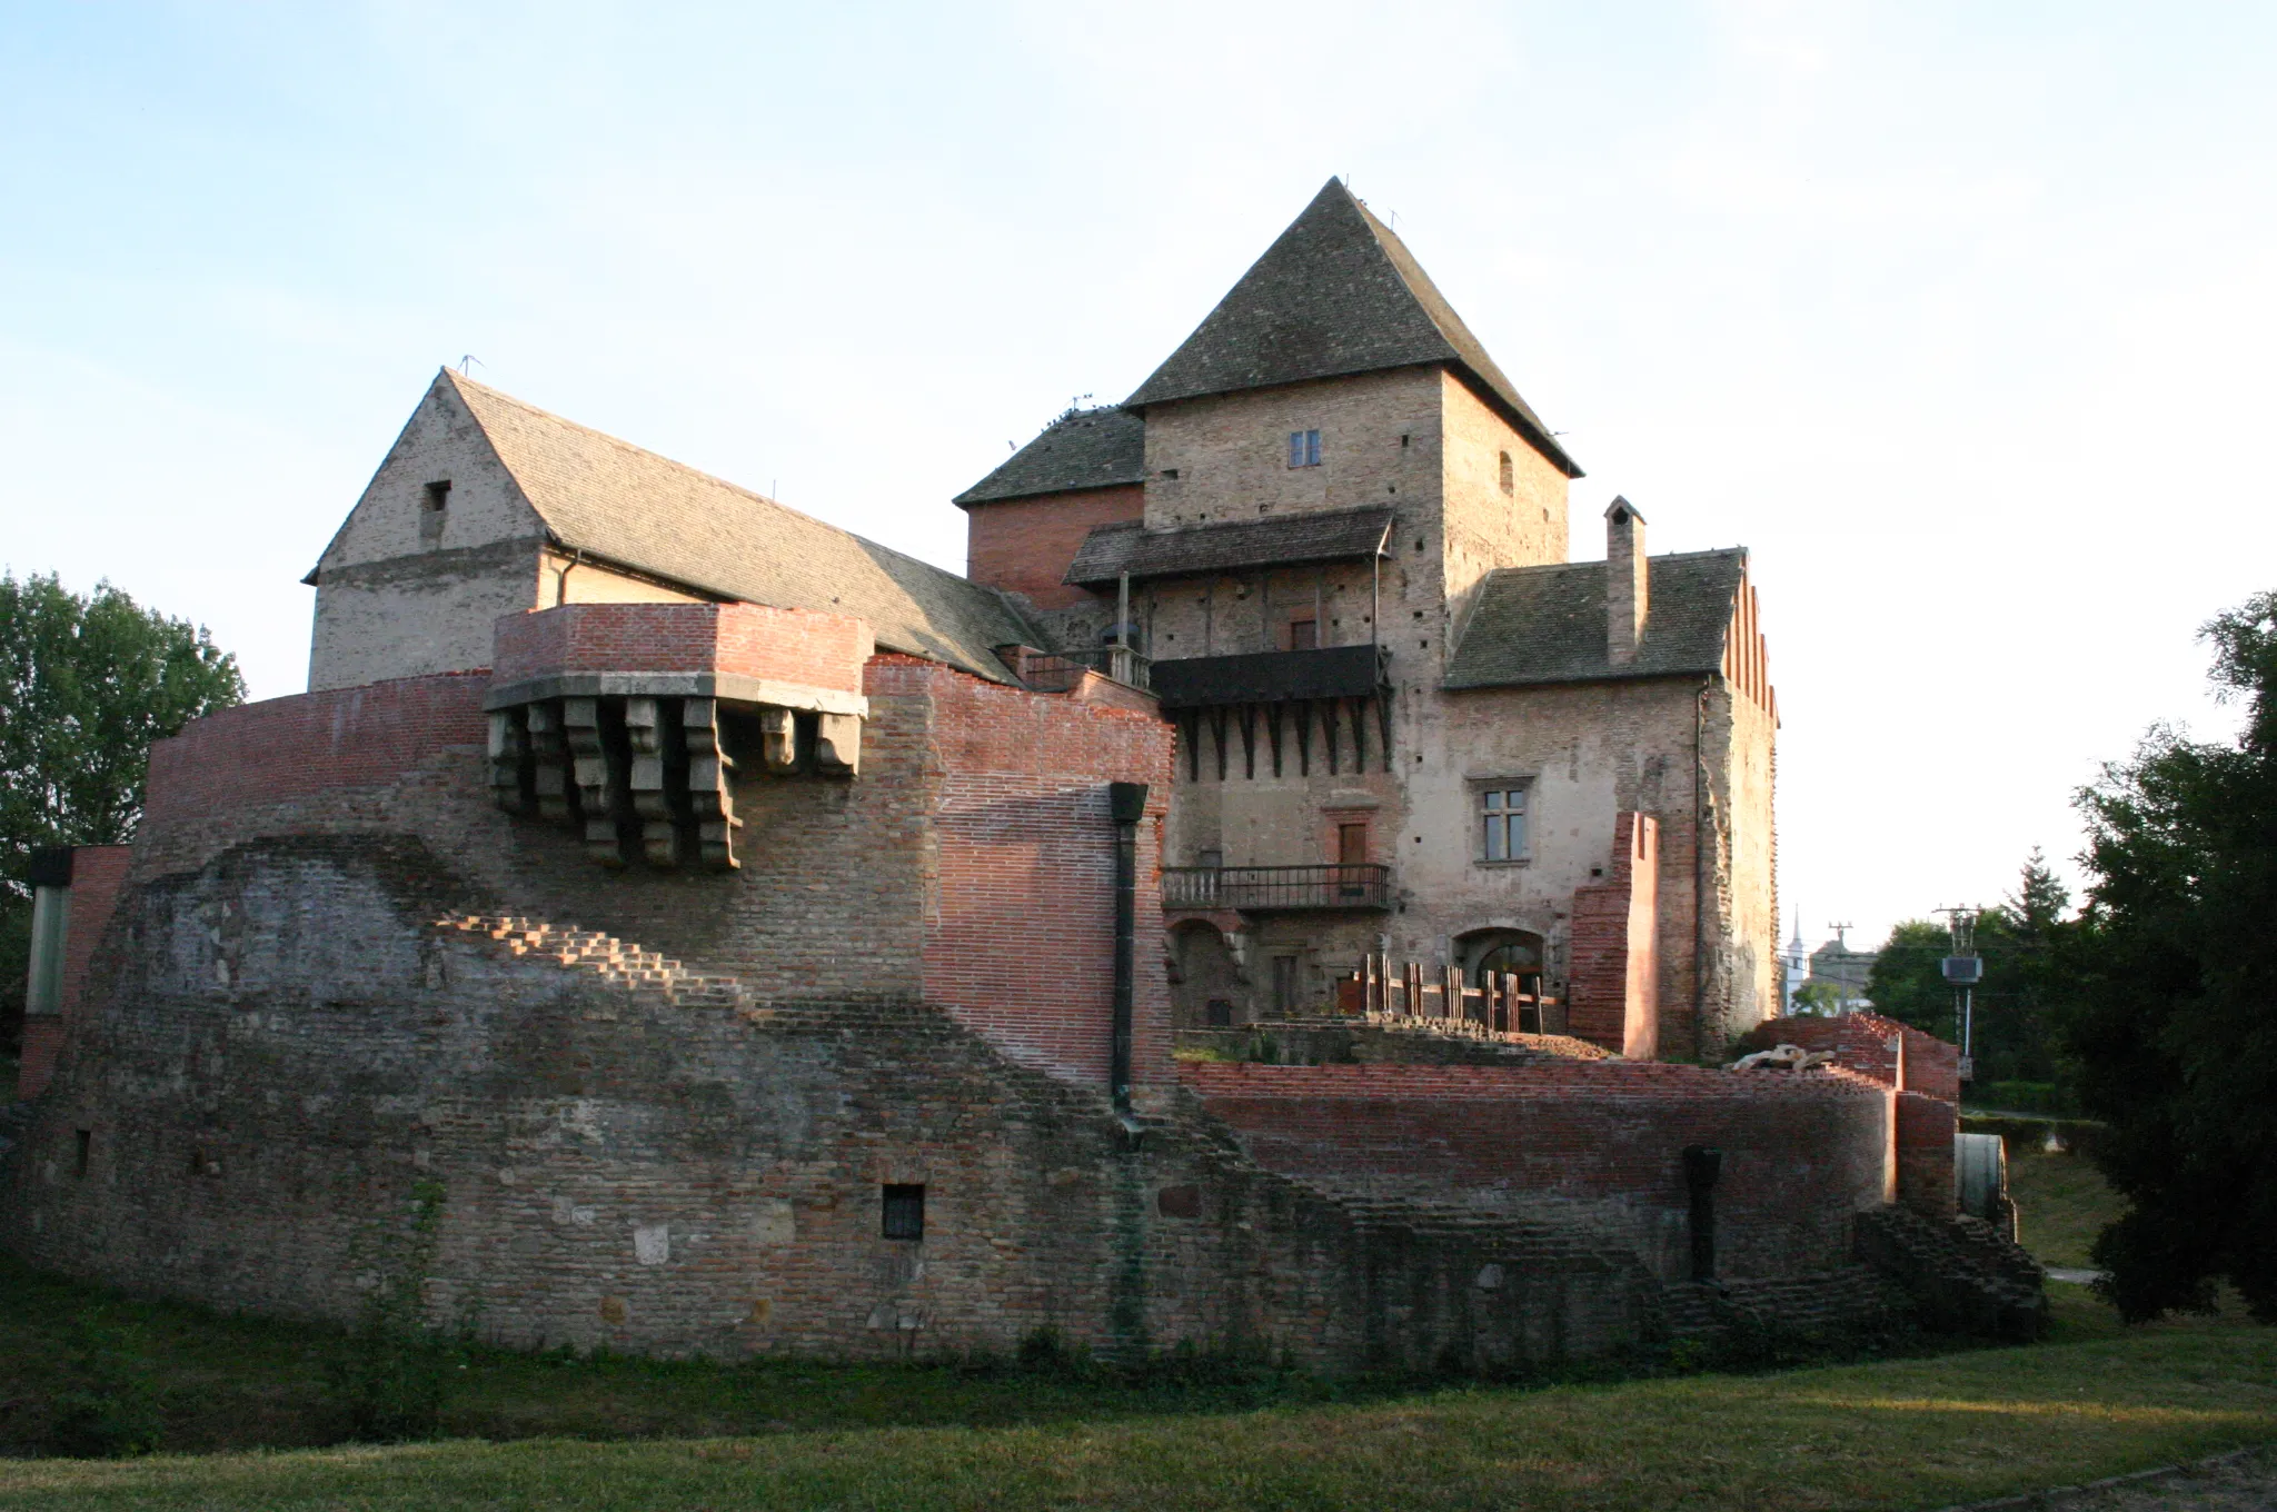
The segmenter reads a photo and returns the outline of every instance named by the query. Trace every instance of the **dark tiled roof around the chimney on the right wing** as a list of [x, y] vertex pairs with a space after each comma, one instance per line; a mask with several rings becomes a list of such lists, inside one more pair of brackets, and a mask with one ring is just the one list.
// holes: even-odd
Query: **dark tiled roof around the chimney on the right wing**
[[1512, 688], [1717, 672], [1744, 574], [1746, 551], [1740, 547], [1651, 558], [1644, 642], [1637, 660], [1614, 667], [1605, 656], [1605, 562], [1489, 572], [1462, 644], [1448, 658], [1446, 685]]

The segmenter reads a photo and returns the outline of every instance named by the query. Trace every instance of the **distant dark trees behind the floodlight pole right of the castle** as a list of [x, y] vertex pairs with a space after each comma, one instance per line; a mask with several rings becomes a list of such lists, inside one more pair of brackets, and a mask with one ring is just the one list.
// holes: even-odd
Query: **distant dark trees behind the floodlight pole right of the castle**
[[[1976, 1082], [2054, 1082], [2054, 1011], [2070, 986], [2063, 943], [2072, 897], [2038, 849], [2024, 861], [2015, 893], [1976, 918]], [[1867, 997], [1888, 1013], [1945, 1041], [1960, 1041], [1954, 988], [1945, 981], [1951, 934], [1933, 920], [1906, 920], [1874, 961]]]

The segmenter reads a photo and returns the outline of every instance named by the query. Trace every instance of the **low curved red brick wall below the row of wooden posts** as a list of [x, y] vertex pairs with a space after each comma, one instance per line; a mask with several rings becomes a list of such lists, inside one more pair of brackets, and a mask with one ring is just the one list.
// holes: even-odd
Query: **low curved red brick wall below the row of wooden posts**
[[1182, 1063], [1179, 1077], [1268, 1168], [1332, 1186], [1446, 1186], [1455, 1200], [1551, 1198], [1624, 1230], [1662, 1275], [1685, 1264], [1685, 1145], [1724, 1150], [1717, 1250], [1726, 1275], [1842, 1264], [1851, 1214], [1883, 1200], [1888, 1100], [1844, 1073], [1753, 1077], [1637, 1061]]

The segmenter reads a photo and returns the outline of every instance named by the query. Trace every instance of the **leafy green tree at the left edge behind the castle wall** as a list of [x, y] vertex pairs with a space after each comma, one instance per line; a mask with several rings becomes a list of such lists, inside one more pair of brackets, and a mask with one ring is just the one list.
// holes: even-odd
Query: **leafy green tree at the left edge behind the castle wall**
[[109, 583], [0, 574], [0, 1018], [23, 1018], [43, 845], [116, 845], [141, 817], [150, 742], [246, 697], [237, 658], [200, 626]]

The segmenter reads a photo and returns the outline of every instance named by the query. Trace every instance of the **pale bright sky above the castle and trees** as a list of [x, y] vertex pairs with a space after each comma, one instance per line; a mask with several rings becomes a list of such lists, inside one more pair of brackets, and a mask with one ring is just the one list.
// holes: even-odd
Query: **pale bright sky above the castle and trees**
[[963, 567], [1343, 175], [1653, 551], [1746, 544], [1803, 934], [2068, 877], [2277, 587], [2277, 7], [0, 7], [0, 567], [298, 692], [442, 364]]

